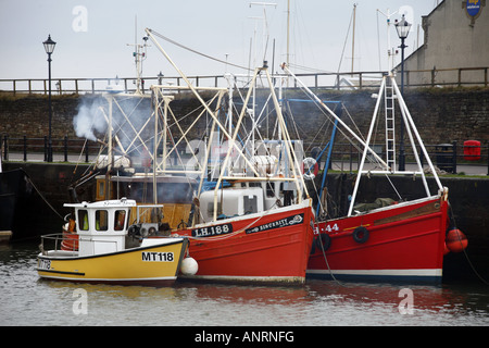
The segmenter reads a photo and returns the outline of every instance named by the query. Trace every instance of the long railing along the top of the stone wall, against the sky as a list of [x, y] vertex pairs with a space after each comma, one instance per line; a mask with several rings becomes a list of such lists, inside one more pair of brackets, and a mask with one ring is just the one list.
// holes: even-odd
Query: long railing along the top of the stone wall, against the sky
[[[404, 72], [404, 87], [462, 87], [462, 86], [489, 86], [489, 67], [454, 67], [412, 70]], [[308, 73], [296, 74], [308, 87], [322, 89], [365, 89], [378, 88], [381, 77], [387, 72], [350, 72], [350, 73]], [[398, 72], [398, 75], [400, 73]], [[284, 75], [275, 75], [279, 77]], [[242, 85], [248, 82], [242, 76]], [[239, 82], [241, 77], [235, 76]], [[226, 87], [227, 80], [223, 75], [189, 76], [190, 82], [199, 87]], [[183, 86], [181, 77], [147, 76], [142, 77], [142, 90], [148, 90], [151, 85], [176, 85]], [[54, 95], [66, 94], [100, 94], [108, 91], [108, 87], [117, 87], [125, 92], [136, 90], [136, 77], [122, 78], [53, 78], [51, 90]], [[239, 86], [239, 84], [238, 84]], [[297, 87], [297, 82], [293, 86]], [[15, 78], [0, 79], [0, 91], [16, 94], [45, 94], [49, 90], [49, 80], [46, 78]]]

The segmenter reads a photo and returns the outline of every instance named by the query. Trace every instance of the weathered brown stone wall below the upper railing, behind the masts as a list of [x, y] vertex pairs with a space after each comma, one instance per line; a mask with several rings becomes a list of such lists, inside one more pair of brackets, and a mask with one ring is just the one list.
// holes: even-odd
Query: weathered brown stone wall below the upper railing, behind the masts
[[[353, 120], [359, 129], [366, 135], [376, 99], [376, 90], [361, 91], [318, 91], [322, 100], [341, 101], [348, 112], [342, 119], [349, 125]], [[260, 95], [259, 95], [260, 96]], [[286, 98], [304, 98], [297, 90], [285, 92]], [[83, 102], [93, 102], [98, 95], [86, 96], [54, 96], [52, 98], [52, 137], [76, 138], [73, 120], [78, 113]], [[260, 100], [263, 98], [259, 98]], [[489, 144], [489, 89], [408, 89], [404, 94], [408, 108], [418, 127], [419, 134], [427, 145], [447, 144], [465, 140], [478, 140], [482, 145]], [[325, 123], [325, 116], [312, 103], [289, 103], [290, 109], [286, 117], [293, 116], [294, 129], [299, 136], [308, 141], [324, 141], [317, 132]], [[141, 105], [150, 109], [150, 100]], [[175, 112], [189, 111], [199, 107], [196, 100], [177, 97], [172, 102]], [[334, 107], [331, 105], [331, 109]], [[399, 112], [399, 110], [397, 111]], [[11, 97], [0, 95], [0, 135], [9, 137], [43, 137], [48, 135], [48, 98], [46, 96], [28, 95], [25, 97]], [[203, 121], [205, 117], [203, 117]], [[291, 119], [289, 119], [291, 120]], [[292, 122], [288, 123], [292, 126]], [[271, 129], [273, 126], [268, 125]], [[383, 127], [383, 122], [379, 122]], [[265, 124], [261, 125], [263, 132]], [[399, 127], [398, 127], [399, 128]], [[205, 124], [197, 127], [197, 133], [205, 129]], [[326, 126], [324, 125], [324, 129]], [[271, 130], [272, 132], [272, 130]], [[200, 137], [199, 134], [193, 136]], [[325, 134], [325, 137], [328, 135]], [[381, 138], [377, 138], [381, 141]], [[341, 141], [341, 140], [338, 140]], [[346, 141], [343, 141], [346, 142]]]

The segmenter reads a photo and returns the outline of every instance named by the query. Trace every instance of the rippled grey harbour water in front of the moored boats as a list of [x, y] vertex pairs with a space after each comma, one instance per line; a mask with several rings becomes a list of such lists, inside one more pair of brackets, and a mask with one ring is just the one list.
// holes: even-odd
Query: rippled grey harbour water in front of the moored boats
[[37, 253], [37, 243], [0, 246], [2, 326], [489, 325], [489, 287], [482, 283], [88, 285], [40, 279]]

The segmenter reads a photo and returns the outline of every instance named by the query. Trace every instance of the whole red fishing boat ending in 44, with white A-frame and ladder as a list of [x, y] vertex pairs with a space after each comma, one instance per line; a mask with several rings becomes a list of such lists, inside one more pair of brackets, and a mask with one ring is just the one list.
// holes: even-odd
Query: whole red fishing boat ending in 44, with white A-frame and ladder
[[[287, 66], [284, 69], [296, 77]], [[297, 77], [296, 77], [297, 79]], [[466, 237], [453, 226], [449, 217], [448, 188], [441, 185], [437, 170], [432, 165], [419, 137], [413, 119], [397, 86], [393, 74], [383, 78], [365, 140], [353, 133], [333, 111], [328, 109], [300, 80], [298, 83], [364, 148], [359, 173], [351, 192], [348, 214], [337, 219], [322, 219], [327, 212], [317, 209], [315, 239], [308, 264], [308, 276], [326, 278], [352, 278], [375, 281], [441, 282], [443, 256], [460, 252], [466, 246]], [[396, 108], [396, 102], [399, 107]], [[378, 127], [378, 114], [384, 105], [385, 158], [372, 148], [374, 130]], [[402, 115], [409, 142], [417, 169], [398, 170], [396, 151], [396, 112]], [[398, 124], [399, 125], [399, 124]], [[418, 152], [421, 151], [421, 153]], [[421, 157], [427, 162], [423, 166]], [[366, 161], [369, 160], [369, 163]], [[369, 165], [367, 165], [369, 164]], [[327, 169], [327, 164], [325, 166]], [[431, 194], [426, 173], [436, 182], [438, 192]], [[356, 204], [359, 185], [364, 176], [410, 175], [421, 177], [426, 196], [404, 201], [400, 192], [398, 199], [377, 199], [376, 203]], [[416, 185], [413, 181], [413, 185]], [[386, 185], [393, 185], [387, 181]], [[323, 194], [323, 189], [319, 191]], [[319, 194], [319, 195], [321, 195]], [[319, 197], [319, 206], [322, 202]], [[399, 203], [398, 203], [399, 201]], [[362, 207], [363, 206], [363, 207]], [[360, 208], [364, 208], [360, 210]], [[322, 211], [323, 210], [323, 211]]]

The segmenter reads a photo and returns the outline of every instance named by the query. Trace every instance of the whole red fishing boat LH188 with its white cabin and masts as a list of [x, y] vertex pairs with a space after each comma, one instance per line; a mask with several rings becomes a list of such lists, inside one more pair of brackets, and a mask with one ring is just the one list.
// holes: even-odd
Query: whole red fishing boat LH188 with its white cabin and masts
[[[200, 100], [197, 89], [159, 45], [154, 32], [147, 29], [147, 33]], [[256, 145], [253, 140], [255, 126], [247, 133], [243, 119], [249, 114], [247, 105], [260, 76], [268, 83], [280, 137], [261, 140]], [[225, 91], [233, 96], [231, 86], [229, 88]], [[156, 101], [154, 113], [159, 114], [161, 110], [163, 120], [166, 120], [164, 112], [167, 107], [158, 109], [158, 101], [165, 102], [167, 87], [153, 86], [152, 91]], [[217, 94], [220, 101], [222, 95]], [[220, 113], [211, 110], [209, 104], [202, 102], [202, 105], [213, 119], [211, 129], [218, 132], [211, 133], [208, 151], [203, 151], [206, 154], [203, 161], [197, 161], [204, 165], [195, 173], [200, 184], [193, 199], [191, 226], [172, 231], [173, 236], [190, 238], [189, 252], [197, 261], [198, 270], [196, 274], [186, 276], [213, 281], [304, 283], [314, 213], [298, 160], [302, 142], [290, 140], [266, 64], [255, 69], [236, 120], [233, 120], [231, 108], [227, 109], [224, 119], [220, 119]], [[228, 127], [223, 126], [226, 122]], [[174, 127], [168, 134], [175, 137], [176, 132]], [[214, 148], [209, 148], [209, 144]], [[163, 153], [167, 150], [164, 149]], [[213, 159], [209, 160], [210, 157]], [[203, 188], [209, 177], [205, 163], [211, 163], [213, 187], [209, 189]], [[191, 175], [188, 166], [184, 174]]]

